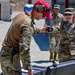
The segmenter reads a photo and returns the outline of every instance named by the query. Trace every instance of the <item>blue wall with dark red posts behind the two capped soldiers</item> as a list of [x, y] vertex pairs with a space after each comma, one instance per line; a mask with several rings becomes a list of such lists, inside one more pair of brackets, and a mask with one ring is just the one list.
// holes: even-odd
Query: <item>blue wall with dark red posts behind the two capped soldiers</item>
[[62, 14], [64, 14], [65, 8], [75, 8], [75, 0], [52, 0], [52, 5], [54, 4], [60, 5], [60, 13]]

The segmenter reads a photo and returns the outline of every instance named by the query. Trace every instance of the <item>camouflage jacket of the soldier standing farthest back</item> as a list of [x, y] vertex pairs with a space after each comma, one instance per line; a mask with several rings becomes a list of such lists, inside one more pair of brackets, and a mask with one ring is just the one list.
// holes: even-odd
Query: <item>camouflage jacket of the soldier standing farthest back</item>
[[[60, 26], [60, 23], [65, 20], [64, 16], [61, 13], [58, 14], [53, 13], [52, 16], [53, 16], [52, 26]], [[52, 39], [52, 37], [55, 38], [57, 45], [60, 41], [60, 33], [50, 33], [50, 39]]]

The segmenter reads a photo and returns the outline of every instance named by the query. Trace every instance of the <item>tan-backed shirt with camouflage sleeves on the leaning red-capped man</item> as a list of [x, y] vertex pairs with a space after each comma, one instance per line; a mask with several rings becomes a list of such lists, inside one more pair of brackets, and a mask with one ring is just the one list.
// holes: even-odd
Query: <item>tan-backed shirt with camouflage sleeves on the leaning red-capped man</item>
[[31, 68], [31, 36], [32, 34], [38, 34], [39, 31], [38, 28], [34, 27], [31, 16], [28, 13], [20, 13], [13, 19], [2, 43], [2, 46], [19, 48], [24, 69]]

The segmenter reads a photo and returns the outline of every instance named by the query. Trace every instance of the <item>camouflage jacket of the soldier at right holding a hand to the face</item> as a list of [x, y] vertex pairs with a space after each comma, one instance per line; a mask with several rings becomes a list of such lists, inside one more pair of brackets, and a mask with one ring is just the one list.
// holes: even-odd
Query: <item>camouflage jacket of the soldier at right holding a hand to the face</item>
[[75, 51], [75, 23], [68, 23], [64, 21], [61, 23], [60, 27], [53, 27], [52, 32], [60, 32], [61, 41], [60, 45], [69, 48], [69, 50]]

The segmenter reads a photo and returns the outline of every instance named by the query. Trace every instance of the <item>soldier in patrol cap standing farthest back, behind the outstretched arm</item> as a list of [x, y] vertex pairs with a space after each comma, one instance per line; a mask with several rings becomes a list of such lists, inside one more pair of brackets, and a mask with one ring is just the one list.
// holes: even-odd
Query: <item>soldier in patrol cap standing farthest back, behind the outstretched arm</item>
[[[52, 13], [52, 26], [59, 26], [62, 21], [65, 20], [64, 16], [59, 13], [60, 5], [54, 5], [54, 12]], [[50, 60], [58, 61], [60, 34], [50, 33]]]

